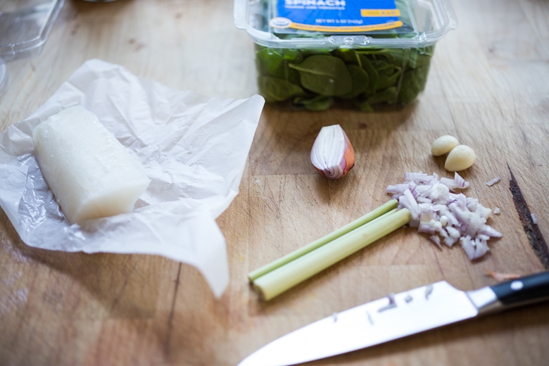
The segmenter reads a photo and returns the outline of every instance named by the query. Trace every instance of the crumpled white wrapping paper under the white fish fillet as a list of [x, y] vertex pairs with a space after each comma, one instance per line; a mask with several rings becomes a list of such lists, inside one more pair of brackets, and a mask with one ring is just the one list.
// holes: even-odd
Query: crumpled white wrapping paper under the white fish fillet
[[[213, 294], [229, 282], [215, 219], [229, 206], [265, 101], [170, 89], [120, 65], [85, 62], [27, 119], [0, 134], [0, 206], [25, 244], [56, 251], [144, 253], [194, 265]], [[81, 105], [127, 146], [152, 182], [134, 212], [70, 225], [32, 154], [32, 130]]]

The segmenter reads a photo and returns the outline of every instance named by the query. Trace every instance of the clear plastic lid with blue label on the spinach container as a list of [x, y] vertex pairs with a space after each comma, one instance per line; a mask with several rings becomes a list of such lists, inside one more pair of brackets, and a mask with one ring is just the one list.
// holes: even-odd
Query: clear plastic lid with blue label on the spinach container
[[[383, 2], [392, 4], [392, 8], [375, 8], [379, 1], [375, 3], [367, 0], [234, 0], [234, 24], [246, 30], [256, 44], [289, 49], [419, 48], [435, 44], [457, 27], [450, 0]], [[309, 13], [309, 18], [302, 16], [311, 9], [316, 13]], [[332, 14], [331, 9], [335, 10]], [[358, 12], [355, 18], [348, 16], [350, 9]], [[381, 23], [375, 23], [376, 19], [382, 19]], [[367, 22], [374, 23], [368, 25]]]

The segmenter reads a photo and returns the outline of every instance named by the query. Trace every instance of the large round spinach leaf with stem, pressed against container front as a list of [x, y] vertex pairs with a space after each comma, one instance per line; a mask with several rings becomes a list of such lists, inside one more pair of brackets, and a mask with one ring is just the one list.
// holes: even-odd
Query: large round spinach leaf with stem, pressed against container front
[[353, 88], [345, 63], [333, 56], [313, 55], [302, 63], [290, 63], [289, 67], [298, 70], [305, 89], [323, 96], [341, 96]]

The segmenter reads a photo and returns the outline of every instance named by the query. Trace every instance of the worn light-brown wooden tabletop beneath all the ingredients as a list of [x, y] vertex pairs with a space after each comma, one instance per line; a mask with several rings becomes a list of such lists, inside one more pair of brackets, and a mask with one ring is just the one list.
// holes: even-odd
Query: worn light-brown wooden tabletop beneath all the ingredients
[[[424, 94], [403, 111], [265, 106], [240, 193], [217, 220], [231, 276], [219, 299], [194, 267], [165, 258], [30, 248], [0, 210], [0, 363], [236, 365], [278, 336], [390, 292], [441, 279], [476, 289], [496, 283], [485, 270], [549, 269], [549, 2], [453, 3], [460, 24], [438, 43]], [[253, 42], [234, 27], [230, 0], [68, 0], [42, 54], [7, 63], [0, 130], [89, 58], [210, 96], [257, 92]], [[356, 165], [328, 181], [308, 154], [320, 127], [335, 123], [353, 141]], [[485, 258], [471, 263], [459, 246], [439, 250], [404, 228], [258, 300], [248, 271], [384, 203], [404, 172], [451, 176], [430, 156], [441, 134], [477, 152], [463, 172], [466, 194], [501, 210], [491, 225], [503, 238]], [[546, 365], [548, 341], [549, 303], [541, 303], [311, 365]]]

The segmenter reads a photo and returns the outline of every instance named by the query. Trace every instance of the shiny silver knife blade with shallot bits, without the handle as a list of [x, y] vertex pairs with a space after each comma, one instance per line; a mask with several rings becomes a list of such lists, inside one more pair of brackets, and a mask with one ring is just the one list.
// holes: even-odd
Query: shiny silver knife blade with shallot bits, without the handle
[[399, 339], [478, 314], [447, 282], [389, 295], [336, 313], [272, 341], [238, 366], [286, 366]]

